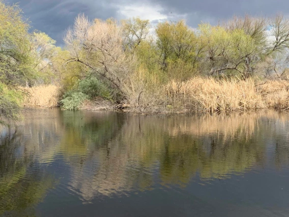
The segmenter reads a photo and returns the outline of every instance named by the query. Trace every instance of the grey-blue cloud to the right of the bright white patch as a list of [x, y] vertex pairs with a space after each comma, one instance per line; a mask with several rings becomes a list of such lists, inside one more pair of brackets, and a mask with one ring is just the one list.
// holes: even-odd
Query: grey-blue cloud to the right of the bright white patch
[[162, 6], [163, 14], [186, 14], [188, 24], [200, 21], [217, 23], [234, 15], [250, 14], [271, 16], [289, 11], [288, 0], [151, 0]]

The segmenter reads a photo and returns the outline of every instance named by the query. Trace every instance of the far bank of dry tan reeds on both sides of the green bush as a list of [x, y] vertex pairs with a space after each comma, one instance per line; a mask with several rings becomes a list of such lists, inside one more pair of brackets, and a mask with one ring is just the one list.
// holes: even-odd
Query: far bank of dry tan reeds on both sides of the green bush
[[[59, 86], [26, 88], [23, 106], [56, 107]], [[157, 90], [134, 92], [121, 103], [101, 97], [83, 100], [79, 110], [122, 110], [134, 113], [234, 112], [259, 108], [288, 110], [289, 81], [194, 77], [171, 82]]]

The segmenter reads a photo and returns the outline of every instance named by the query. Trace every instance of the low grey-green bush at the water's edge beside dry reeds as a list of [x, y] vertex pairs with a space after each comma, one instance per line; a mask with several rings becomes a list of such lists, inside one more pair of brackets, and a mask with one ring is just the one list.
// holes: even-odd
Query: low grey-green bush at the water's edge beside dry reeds
[[81, 103], [88, 98], [84, 93], [71, 91], [66, 93], [60, 102], [65, 110], [78, 110]]

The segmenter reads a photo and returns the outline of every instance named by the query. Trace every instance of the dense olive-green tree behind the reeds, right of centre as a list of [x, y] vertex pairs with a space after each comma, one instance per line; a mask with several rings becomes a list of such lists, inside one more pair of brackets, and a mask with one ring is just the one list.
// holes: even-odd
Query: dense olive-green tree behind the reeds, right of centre
[[[199, 58], [203, 55], [203, 41], [198, 40], [184, 20], [159, 23], [156, 35], [162, 68], [167, 72], [170, 71], [172, 77], [180, 75], [179, 72], [182, 72], [183, 77], [191, 76], [196, 71]], [[183, 67], [184, 65], [186, 67]], [[181, 71], [177, 70], [180, 66]]]

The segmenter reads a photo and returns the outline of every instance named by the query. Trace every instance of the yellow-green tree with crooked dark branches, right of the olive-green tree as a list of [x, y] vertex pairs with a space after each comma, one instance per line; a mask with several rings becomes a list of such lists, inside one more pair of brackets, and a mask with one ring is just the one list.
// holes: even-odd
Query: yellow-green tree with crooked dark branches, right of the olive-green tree
[[[229, 74], [248, 77], [253, 72], [253, 60], [260, 55], [255, 40], [242, 29], [226, 30], [222, 26], [199, 25], [200, 37], [206, 41], [206, 58], [203, 70], [207, 73]], [[208, 65], [208, 62], [210, 63]]]

